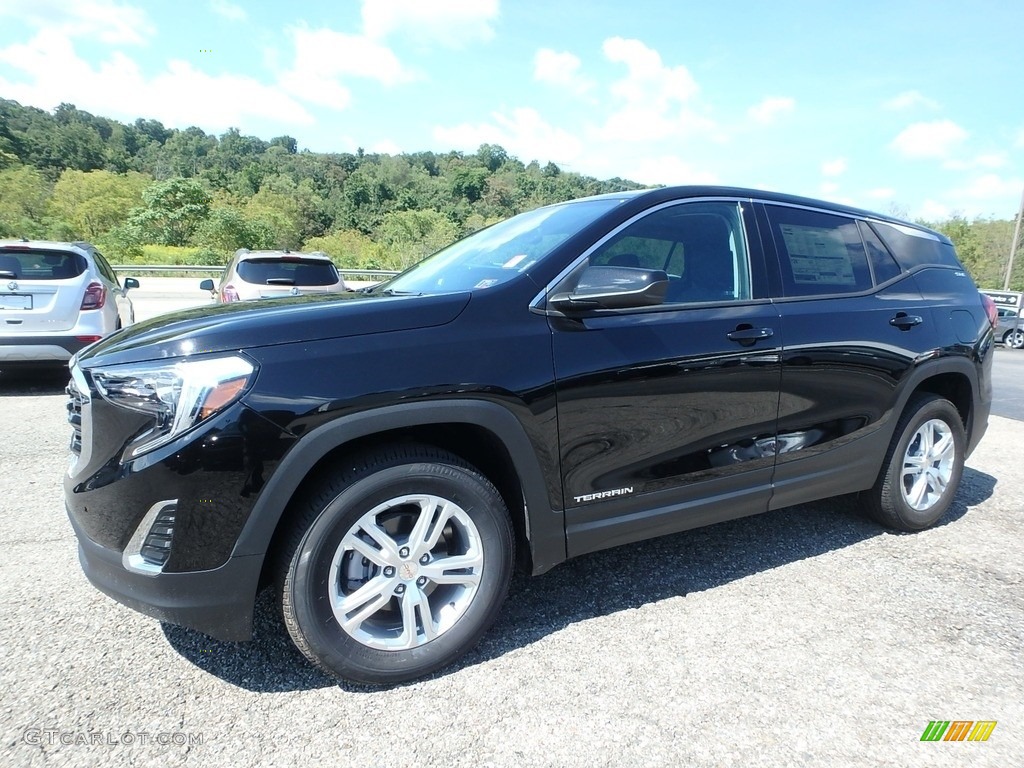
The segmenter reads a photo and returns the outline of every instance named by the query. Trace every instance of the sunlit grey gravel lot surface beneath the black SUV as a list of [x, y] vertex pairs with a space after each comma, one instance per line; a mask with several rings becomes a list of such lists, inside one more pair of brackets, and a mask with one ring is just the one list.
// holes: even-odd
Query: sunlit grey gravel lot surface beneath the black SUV
[[266, 596], [233, 644], [89, 586], [62, 386], [0, 375], [0, 765], [1024, 765], [1024, 423], [992, 418], [932, 530], [842, 499], [588, 555], [517, 579], [458, 667], [372, 690]]

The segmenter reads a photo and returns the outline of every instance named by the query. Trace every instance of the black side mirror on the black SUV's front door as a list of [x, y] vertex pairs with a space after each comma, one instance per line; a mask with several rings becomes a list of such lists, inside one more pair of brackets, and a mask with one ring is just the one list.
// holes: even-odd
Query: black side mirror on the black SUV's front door
[[660, 269], [588, 266], [571, 293], [555, 294], [548, 304], [563, 312], [587, 309], [633, 309], [665, 302], [669, 275]]

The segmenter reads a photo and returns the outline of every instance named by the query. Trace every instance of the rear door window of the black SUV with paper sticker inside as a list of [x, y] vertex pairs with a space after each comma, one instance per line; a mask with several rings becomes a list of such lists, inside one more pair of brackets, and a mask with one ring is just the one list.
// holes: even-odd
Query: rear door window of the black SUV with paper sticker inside
[[856, 220], [799, 208], [766, 208], [786, 296], [856, 293], [871, 287]]

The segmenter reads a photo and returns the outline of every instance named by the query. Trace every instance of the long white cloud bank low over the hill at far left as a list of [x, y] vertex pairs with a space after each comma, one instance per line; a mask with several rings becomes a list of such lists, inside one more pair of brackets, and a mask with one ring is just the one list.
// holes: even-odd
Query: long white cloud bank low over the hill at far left
[[0, 49], [0, 61], [24, 74], [19, 82], [0, 78], [0, 92], [23, 103], [53, 109], [67, 101], [99, 115], [134, 120], [140, 115], [172, 127], [201, 122], [207, 130], [225, 130], [252, 117], [288, 125], [313, 122], [301, 104], [274, 86], [239, 75], [208, 75], [189, 62], [171, 60], [146, 78], [120, 51], [93, 68], [55, 30], [40, 32], [28, 43]]

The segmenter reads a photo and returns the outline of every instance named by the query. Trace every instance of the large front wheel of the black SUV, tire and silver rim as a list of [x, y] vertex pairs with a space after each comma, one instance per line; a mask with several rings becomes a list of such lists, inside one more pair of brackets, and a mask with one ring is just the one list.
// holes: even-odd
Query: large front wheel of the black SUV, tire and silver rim
[[465, 654], [497, 618], [512, 524], [495, 486], [461, 459], [419, 445], [359, 456], [296, 511], [282, 613], [295, 645], [329, 674], [413, 680]]

